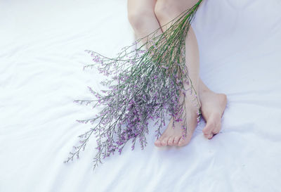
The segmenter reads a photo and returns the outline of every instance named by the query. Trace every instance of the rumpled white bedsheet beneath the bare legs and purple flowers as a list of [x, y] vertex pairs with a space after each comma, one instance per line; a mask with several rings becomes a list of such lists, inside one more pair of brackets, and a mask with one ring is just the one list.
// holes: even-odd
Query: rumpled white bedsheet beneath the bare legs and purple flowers
[[148, 146], [92, 172], [95, 142], [63, 164], [97, 111], [91, 57], [133, 42], [125, 0], [0, 1], [0, 191], [281, 191], [281, 1], [205, 0], [192, 26], [200, 75], [228, 105], [221, 133], [188, 146]]

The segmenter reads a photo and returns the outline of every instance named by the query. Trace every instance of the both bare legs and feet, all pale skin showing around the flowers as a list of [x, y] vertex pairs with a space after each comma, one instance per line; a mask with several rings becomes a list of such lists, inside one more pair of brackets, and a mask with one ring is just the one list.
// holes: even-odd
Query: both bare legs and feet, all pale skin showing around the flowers
[[[128, 18], [138, 38], [145, 37], [157, 30], [160, 26], [169, 23], [183, 11], [191, 8], [197, 0], [128, 0]], [[167, 27], [162, 27], [164, 32]], [[188, 66], [189, 77], [192, 85], [200, 98], [200, 110], [204, 120], [207, 122], [203, 134], [207, 139], [213, 138], [221, 130], [221, 117], [226, 108], [226, 95], [216, 94], [211, 91], [199, 77], [199, 49], [195, 32], [190, 28], [185, 40], [185, 60]], [[181, 94], [183, 97], [183, 94]], [[185, 146], [190, 142], [193, 132], [197, 127], [197, 108], [191, 102], [188, 94], [185, 96], [187, 109], [188, 131], [183, 137], [181, 122], [172, 126], [170, 120], [162, 136], [155, 141], [155, 146]]]

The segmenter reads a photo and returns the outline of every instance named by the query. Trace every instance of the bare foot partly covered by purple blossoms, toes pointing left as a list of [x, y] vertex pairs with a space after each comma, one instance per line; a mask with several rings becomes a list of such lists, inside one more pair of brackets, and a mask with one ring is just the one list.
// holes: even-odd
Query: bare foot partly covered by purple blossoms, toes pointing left
[[[181, 97], [183, 98], [183, 95], [181, 95]], [[190, 98], [186, 97], [185, 106], [187, 110], [186, 121], [188, 122], [186, 136], [183, 136], [185, 133], [185, 130], [182, 128], [183, 122], [175, 122], [175, 126], [173, 127], [173, 119], [171, 118], [168, 127], [162, 136], [155, 141], [155, 146], [185, 146], [189, 143], [192, 134], [197, 127], [197, 108], [194, 106], [194, 103], [190, 101]]]

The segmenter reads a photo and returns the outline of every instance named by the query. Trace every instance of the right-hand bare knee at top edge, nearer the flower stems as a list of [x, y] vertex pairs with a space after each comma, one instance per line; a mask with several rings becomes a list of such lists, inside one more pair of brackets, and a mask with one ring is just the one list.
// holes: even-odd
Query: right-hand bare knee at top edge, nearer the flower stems
[[159, 21], [166, 21], [171, 19], [175, 12], [178, 12], [176, 9], [174, 0], [157, 0], [154, 12]]

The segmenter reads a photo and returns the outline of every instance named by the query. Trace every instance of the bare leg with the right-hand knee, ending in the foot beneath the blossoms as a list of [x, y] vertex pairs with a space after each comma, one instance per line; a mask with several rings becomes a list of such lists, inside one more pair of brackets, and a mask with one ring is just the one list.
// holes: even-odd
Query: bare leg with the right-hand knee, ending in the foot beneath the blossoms
[[[196, 1], [195, 1], [196, 2]], [[183, 11], [191, 8], [195, 2], [186, 0], [158, 0], [155, 5], [155, 15], [160, 25], [163, 26], [169, 23], [171, 20], [180, 15]], [[163, 32], [169, 27], [169, 25], [162, 27]], [[188, 36], [185, 39], [185, 60], [188, 67], [189, 77], [192, 81], [193, 88], [199, 93], [199, 51], [197, 45], [197, 39], [192, 28], [188, 31]], [[185, 85], [188, 87], [188, 85]], [[181, 95], [181, 97], [184, 97]], [[187, 110], [186, 119], [188, 122], [186, 138], [183, 137], [183, 129], [181, 128], [181, 122], [176, 122], [175, 127], [170, 120], [168, 127], [162, 134], [162, 136], [155, 141], [156, 146], [185, 146], [190, 142], [192, 134], [197, 127], [197, 108], [192, 104], [192, 96], [186, 94], [185, 96], [185, 108]]]

